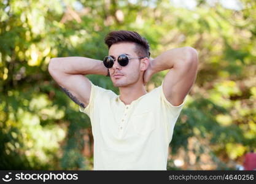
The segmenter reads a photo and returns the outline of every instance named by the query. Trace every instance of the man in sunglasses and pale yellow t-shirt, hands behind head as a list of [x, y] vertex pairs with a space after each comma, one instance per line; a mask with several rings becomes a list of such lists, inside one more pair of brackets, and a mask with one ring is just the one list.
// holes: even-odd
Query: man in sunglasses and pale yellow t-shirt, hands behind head
[[[166, 170], [173, 128], [196, 79], [198, 56], [191, 47], [150, 59], [149, 44], [134, 31], [105, 38], [104, 62], [82, 57], [53, 58], [48, 70], [91, 120], [94, 170]], [[170, 69], [162, 85], [147, 93], [152, 75]], [[83, 75], [109, 75], [120, 95]]]

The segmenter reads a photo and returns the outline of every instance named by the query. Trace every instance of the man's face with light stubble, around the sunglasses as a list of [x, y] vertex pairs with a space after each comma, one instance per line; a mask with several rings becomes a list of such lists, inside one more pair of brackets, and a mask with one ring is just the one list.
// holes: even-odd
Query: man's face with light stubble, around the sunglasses
[[112, 56], [114, 59], [117, 59], [121, 54], [128, 55], [128, 58], [134, 58], [129, 59], [129, 63], [126, 66], [120, 66], [117, 60], [114, 61], [114, 65], [109, 69], [114, 86], [125, 87], [133, 85], [139, 81], [143, 74], [140, 67], [140, 61], [137, 58], [138, 55], [134, 52], [135, 47], [135, 44], [125, 42], [113, 44], [111, 45], [111, 48], [109, 48], [109, 56]]

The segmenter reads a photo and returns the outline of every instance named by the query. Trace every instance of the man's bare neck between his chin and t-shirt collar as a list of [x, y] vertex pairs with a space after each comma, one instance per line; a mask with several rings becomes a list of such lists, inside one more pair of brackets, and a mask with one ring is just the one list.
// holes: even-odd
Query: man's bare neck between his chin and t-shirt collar
[[134, 100], [140, 98], [141, 96], [147, 93], [142, 83], [134, 83], [134, 85], [131, 85], [131, 86], [120, 87], [119, 92], [120, 92], [120, 100], [125, 105], [131, 104], [131, 102], [133, 102]]

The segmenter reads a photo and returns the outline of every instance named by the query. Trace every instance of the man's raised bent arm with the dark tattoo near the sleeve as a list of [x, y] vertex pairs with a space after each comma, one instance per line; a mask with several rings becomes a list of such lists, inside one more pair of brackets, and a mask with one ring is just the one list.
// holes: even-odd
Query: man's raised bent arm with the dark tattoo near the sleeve
[[84, 75], [107, 75], [102, 61], [83, 57], [52, 58], [48, 71], [72, 101], [85, 108], [90, 100], [91, 83]]

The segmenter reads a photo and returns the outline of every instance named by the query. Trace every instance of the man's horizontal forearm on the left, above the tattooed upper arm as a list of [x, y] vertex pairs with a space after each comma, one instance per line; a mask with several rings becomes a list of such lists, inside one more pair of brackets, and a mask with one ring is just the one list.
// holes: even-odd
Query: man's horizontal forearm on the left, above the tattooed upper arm
[[107, 75], [107, 68], [102, 61], [84, 57], [52, 58], [48, 68], [64, 74]]

